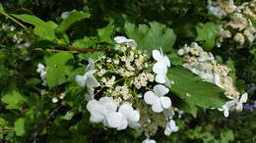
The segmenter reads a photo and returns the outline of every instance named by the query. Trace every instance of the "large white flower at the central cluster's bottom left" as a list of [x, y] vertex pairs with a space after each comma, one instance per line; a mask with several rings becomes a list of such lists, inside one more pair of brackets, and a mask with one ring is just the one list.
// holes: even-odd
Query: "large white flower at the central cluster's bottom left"
[[89, 101], [87, 110], [91, 113], [92, 122], [103, 122], [105, 126], [109, 126], [107, 118], [116, 112], [117, 104], [110, 97], [102, 97], [98, 101]]

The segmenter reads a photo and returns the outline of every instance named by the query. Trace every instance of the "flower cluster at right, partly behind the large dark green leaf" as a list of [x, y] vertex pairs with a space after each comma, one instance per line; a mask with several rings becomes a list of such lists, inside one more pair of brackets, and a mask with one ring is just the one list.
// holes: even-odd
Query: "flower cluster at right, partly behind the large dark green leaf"
[[247, 93], [242, 94], [239, 100], [240, 93], [233, 85], [232, 78], [228, 76], [230, 70], [219, 64], [212, 53], [205, 52], [202, 47], [194, 42], [190, 46], [185, 45], [179, 49], [177, 54], [183, 56], [184, 68], [198, 74], [205, 81], [215, 83], [224, 89], [225, 96], [231, 100], [219, 109], [224, 111], [224, 117], [228, 117], [229, 110], [236, 109], [240, 111], [242, 109], [242, 103], [247, 100]]

